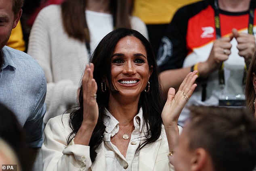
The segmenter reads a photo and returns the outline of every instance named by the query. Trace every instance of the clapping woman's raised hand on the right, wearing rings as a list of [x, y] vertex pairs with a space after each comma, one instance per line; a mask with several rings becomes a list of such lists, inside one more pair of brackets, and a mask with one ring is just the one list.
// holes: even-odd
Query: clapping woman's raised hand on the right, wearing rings
[[197, 84], [195, 84], [197, 77], [197, 71], [190, 72], [180, 84], [176, 94], [174, 88], [171, 87], [169, 89], [167, 101], [162, 111], [162, 120], [166, 129], [168, 127], [177, 127], [178, 117], [195, 90], [195, 87], [197, 87]]

